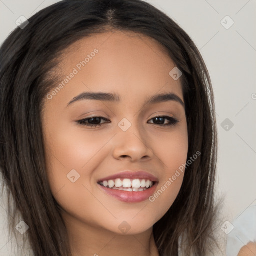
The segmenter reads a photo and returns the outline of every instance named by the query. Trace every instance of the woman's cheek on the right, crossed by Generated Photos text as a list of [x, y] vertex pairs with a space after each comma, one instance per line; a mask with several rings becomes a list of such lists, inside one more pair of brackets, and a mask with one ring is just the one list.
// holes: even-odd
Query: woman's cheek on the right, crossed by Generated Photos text
[[[158, 140], [160, 141], [160, 140]], [[163, 171], [155, 193], [149, 197], [158, 221], [170, 208], [176, 199], [183, 182], [185, 164], [188, 152], [187, 129], [173, 132], [162, 143], [155, 147], [162, 161]]]

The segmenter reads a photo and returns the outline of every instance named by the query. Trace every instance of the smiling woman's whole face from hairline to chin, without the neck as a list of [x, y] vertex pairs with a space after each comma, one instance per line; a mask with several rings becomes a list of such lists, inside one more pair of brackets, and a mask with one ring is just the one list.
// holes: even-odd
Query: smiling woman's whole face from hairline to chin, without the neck
[[[174, 67], [161, 45], [132, 32], [70, 46], [42, 115], [47, 176], [68, 223], [137, 234], [170, 208], [188, 150]], [[150, 100], [159, 94], [168, 96]]]

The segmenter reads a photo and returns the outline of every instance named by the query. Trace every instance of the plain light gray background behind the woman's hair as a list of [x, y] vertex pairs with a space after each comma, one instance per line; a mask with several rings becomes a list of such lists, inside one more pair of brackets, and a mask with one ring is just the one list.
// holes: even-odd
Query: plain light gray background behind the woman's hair
[[[21, 15], [29, 18], [55, 2], [0, 0], [0, 43], [16, 27], [15, 21]], [[225, 220], [232, 223], [247, 207], [256, 204], [256, 1], [147, 2], [169, 15], [189, 34], [208, 68], [219, 139], [216, 193], [225, 196]], [[226, 15], [234, 21], [229, 29], [221, 24], [230, 24], [230, 20], [223, 20]], [[232, 128], [223, 122], [226, 118], [233, 123]], [[6, 226], [5, 208], [0, 200], [0, 230]], [[10, 255], [9, 239], [5, 232], [0, 233], [2, 256]]]

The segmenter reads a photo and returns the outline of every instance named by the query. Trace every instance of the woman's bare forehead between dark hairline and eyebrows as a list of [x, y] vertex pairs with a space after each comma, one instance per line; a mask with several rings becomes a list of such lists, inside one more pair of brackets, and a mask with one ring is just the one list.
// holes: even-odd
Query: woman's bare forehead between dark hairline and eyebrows
[[119, 94], [121, 100], [158, 92], [173, 92], [182, 99], [180, 79], [169, 75], [174, 67], [164, 46], [151, 37], [130, 31], [92, 34], [62, 55], [61, 81], [75, 75], [54, 98], [61, 95], [68, 102], [80, 92], [101, 91]]

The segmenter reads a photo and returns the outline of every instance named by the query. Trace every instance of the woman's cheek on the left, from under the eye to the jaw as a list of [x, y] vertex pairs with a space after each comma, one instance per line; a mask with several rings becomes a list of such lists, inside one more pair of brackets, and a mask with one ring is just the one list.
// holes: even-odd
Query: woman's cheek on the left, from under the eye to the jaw
[[[91, 194], [90, 183], [95, 168], [93, 164], [100, 162], [99, 150], [109, 138], [95, 135], [85, 137], [83, 132], [74, 132], [72, 128], [54, 127], [48, 127], [45, 136], [51, 192], [61, 208], [72, 216], [96, 221], [101, 211], [93, 209], [102, 205]], [[88, 210], [91, 205], [93, 207]]]

